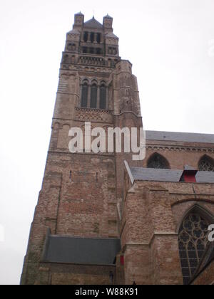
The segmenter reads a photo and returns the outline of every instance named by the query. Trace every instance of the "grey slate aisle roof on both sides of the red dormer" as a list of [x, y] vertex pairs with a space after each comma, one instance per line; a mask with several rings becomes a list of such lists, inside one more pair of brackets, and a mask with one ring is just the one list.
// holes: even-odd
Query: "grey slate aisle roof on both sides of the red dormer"
[[[136, 181], [151, 182], [180, 182], [183, 170], [151, 169], [131, 167], [131, 174]], [[214, 184], [214, 172], [198, 172], [195, 176], [197, 183]]]

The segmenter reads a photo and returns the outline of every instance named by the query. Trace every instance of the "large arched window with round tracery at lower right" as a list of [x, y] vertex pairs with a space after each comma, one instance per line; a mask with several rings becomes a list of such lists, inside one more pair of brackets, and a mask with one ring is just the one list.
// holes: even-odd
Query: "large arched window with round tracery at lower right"
[[204, 216], [193, 209], [180, 226], [178, 246], [184, 285], [190, 283], [208, 245], [209, 224]]

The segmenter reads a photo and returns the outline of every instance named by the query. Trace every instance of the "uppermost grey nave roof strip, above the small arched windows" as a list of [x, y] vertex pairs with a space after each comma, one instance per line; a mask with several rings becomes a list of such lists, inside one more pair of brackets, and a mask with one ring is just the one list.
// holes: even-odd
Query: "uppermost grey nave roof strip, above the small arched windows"
[[182, 132], [146, 131], [146, 140], [214, 143], [214, 135]]

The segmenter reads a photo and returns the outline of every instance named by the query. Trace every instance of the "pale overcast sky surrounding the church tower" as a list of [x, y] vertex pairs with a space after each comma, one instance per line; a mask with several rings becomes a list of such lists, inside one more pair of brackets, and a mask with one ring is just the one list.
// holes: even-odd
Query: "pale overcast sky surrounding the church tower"
[[213, 0], [0, 1], [0, 284], [18, 284], [73, 15], [113, 16], [146, 130], [213, 133]]

